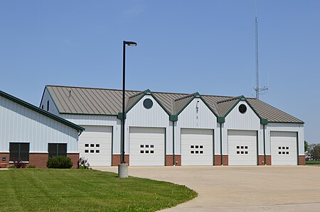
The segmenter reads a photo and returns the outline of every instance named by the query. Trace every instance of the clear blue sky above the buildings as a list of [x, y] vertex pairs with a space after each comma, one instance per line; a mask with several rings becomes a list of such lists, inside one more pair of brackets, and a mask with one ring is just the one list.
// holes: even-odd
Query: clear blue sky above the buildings
[[[262, 101], [320, 143], [320, 1], [257, 0]], [[0, 1], [0, 89], [38, 106], [46, 84], [252, 96], [255, 1]]]

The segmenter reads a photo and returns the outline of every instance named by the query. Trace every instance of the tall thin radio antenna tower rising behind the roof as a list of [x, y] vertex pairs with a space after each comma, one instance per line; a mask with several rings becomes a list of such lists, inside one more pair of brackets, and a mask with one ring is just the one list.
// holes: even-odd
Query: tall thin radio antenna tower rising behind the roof
[[255, 98], [259, 99], [260, 94], [266, 94], [268, 87], [259, 87], [259, 45], [257, 28], [257, 0], [255, 0]]

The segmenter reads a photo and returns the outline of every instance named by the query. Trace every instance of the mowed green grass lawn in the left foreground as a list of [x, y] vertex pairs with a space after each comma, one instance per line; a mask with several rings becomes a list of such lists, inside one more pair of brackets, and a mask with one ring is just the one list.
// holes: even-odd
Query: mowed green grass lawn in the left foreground
[[197, 196], [186, 186], [90, 169], [0, 171], [0, 211], [156, 211]]

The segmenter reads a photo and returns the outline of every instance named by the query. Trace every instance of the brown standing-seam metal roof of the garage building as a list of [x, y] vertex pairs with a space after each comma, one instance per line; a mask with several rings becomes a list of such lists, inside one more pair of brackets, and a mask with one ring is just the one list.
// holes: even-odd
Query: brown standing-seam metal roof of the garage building
[[[85, 87], [46, 86], [60, 113], [117, 115], [122, 111], [122, 90]], [[133, 106], [144, 91], [126, 91], [126, 108]], [[152, 92], [161, 106], [176, 114], [188, 104], [193, 94]], [[240, 98], [232, 96], [202, 95], [208, 106], [218, 115], [225, 116]], [[248, 98], [252, 108], [269, 122], [303, 123], [259, 99]]]

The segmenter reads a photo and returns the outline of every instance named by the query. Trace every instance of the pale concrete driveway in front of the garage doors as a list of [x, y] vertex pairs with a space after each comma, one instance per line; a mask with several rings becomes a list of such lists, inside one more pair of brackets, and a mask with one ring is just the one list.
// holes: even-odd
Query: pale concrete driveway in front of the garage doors
[[129, 175], [198, 192], [196, 199], [164, 211], [320, 211], [320, 167], [129, 167]]

